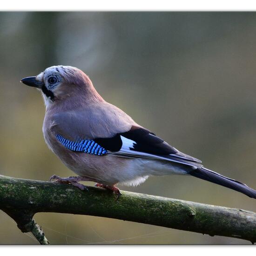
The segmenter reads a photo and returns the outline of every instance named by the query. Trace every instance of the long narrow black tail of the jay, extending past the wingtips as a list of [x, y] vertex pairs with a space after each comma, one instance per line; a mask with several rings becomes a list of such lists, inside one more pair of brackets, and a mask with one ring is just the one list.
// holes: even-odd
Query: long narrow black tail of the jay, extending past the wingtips
[[249, 188], [242, 182], [237, 182], [236, 180], [232, 180], [207, 168], [200, 167], [189, 172], [189, 174], [197, 178], [222, 185], [229, 189], [234, 189], [238, 192], [243, 193], [244, 195], [248, 195], [249, 197], [256, 198], [256, 190]]

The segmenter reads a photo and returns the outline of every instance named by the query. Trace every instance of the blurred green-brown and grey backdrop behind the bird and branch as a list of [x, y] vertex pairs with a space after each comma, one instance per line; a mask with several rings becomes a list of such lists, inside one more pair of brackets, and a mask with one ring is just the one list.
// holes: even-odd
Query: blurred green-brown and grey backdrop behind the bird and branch
[[[142, 126], [256, 189], [256, 13], [2, 12], [0, 60], [0, 174], [73, 175], [44, 142], [40, 93], [20, 83], [70, 65]], [[256, 211], [246, 195], [191, 176], [120, 188]], [[249, 244], [93, 216], [35, 220], [52, 244]], [[2, 211], [0, 224], [1, 244], [38, 243]]]

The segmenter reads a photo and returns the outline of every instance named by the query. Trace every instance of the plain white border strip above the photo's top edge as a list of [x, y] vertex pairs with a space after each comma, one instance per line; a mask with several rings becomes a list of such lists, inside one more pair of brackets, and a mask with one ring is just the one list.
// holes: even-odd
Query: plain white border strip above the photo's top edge
[[255, 0], [10, 0], [1, 11], [253, 11]]

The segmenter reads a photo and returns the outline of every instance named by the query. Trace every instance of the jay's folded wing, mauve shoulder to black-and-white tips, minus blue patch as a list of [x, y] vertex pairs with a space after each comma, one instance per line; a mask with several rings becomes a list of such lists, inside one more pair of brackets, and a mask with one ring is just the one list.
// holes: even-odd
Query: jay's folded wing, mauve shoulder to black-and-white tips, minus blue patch
[[168, 160], [191, 166], [201, 163], [137, 125], [119, 108], [113, 105], [110, 109], [103, 108], [109, 105], [55, 114], [53, 130], [56, 135], [75, 143], [94, 141], [112, 155]]

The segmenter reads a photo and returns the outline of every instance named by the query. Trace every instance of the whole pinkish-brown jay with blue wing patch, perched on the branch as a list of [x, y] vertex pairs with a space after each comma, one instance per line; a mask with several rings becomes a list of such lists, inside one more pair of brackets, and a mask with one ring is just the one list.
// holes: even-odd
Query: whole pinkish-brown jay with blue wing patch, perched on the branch
[[136, 186], [150, 176], [191, 175], [256, 198], [256, 190], [216, 173], [105, 101], [88, 75], [71, 66], [47, 67], [20, 82], [37, 88], [46, 112], [43, 136], [47, 146], [77, 176], [52, 175], [51, 182], [96, 182], [121, 195], [117, 185]]

